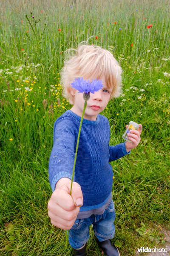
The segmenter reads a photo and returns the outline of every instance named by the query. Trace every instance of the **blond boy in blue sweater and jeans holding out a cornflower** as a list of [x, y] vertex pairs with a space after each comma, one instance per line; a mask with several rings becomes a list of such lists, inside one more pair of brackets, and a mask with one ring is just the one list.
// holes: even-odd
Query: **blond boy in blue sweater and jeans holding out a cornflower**
[[[110, 99], [121, 91], [121, 73], [111, 52], [101, 47], [82, 45], [65, 61], [61, 73], [63, 96], [73, 107], [54, 124], [54, 145], [49, 161], [49, 180], [53, 194], [48, 202], [51, 223], [69, 231], [74, 256], [86, 256], [89, 226], [93, 224], [95, 239], [107, 256], [119, 256], [111, 244], [114, 237], [115, 210], [112, 200], [113, 171], [109, 162], [130, 153], [140, 141], [139, 131], [132, 131], [132, 141], [110, 146], [110, 126], [100, 115]], [[71, 87], [76, 78], [100, 79], [101, 90], [90, 93], [87, 101], [77, 152], [75, 177], [70, 195], [77, 135], [84, 107], [83, 93]]]

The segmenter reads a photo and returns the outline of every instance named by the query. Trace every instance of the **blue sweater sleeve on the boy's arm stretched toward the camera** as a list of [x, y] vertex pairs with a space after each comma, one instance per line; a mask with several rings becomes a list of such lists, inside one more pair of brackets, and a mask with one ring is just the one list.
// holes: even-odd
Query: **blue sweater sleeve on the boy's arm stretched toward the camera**
[[56, 183], [63, 177], [72, 177], [75, 156], [73, 123], [63, 119], [54, 124], [54, 143], [49, 160], [49, 181], [54, 192]]

